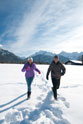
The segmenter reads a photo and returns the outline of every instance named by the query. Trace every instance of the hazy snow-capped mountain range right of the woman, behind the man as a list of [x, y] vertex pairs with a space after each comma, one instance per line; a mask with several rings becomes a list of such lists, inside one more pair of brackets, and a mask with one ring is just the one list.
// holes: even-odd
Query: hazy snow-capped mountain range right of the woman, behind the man
[[[39, 51], [32, 55], [34, 58], [34, 61], [36, 62], [42, 62], [42, 63], [50, 63], [53, 60], [53, 57], [56, 55], [56, 53], [48, 52], [48, 51]], [[82, 60], [83, 52], [64, 52], [58, 54], [59, 59], [62, 63], [67, 62], [68, 60]]]

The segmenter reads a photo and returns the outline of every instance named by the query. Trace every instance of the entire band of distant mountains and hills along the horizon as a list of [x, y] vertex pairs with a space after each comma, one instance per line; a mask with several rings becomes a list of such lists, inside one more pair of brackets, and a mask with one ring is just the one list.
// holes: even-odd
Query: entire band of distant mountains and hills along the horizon
[[[56, 54], [52, 52], [47, 51], [39, 51], [31, 55], [34, 59], [35, 63], [41, 63], [41, 64], [50, 64], [53, 61], [53, 58]], [[82, 60], [81, 56], [83, 55], [83, 52], [77, 53], [66, 53], [61, 52], [58, 54], [59, 60], [62, 63], [67, 62], [68, 60]], [[28, 58], [28, 57], [27, 57]], [[27, 58], [25, 57], [18, 57], [12, 52], [9, 52], [8, 50], [4, 50], [0, 48], [0, 63], [25, 63], [27, 61]]]

